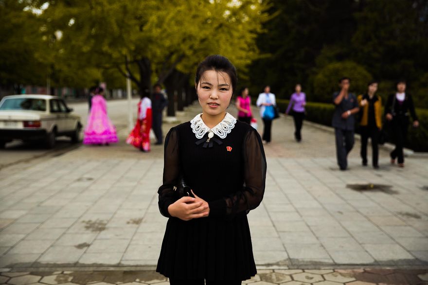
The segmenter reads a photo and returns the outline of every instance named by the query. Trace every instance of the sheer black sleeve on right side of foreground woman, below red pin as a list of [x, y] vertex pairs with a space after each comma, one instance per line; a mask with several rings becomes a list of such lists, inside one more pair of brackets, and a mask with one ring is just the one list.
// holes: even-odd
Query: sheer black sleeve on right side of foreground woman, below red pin
[[210, 216], [233, 216], [255, 209], [265, 193], [266, 157], [262, 140], [253, 128], [247, 132], [243, 142], [244, 187], [232, 195], [209, 202]]

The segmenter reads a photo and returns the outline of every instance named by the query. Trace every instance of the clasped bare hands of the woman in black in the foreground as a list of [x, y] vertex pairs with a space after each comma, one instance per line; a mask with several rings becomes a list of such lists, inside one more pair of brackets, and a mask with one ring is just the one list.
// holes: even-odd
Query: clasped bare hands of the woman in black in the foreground
[[168, 206], [168, 213], [171, 216], [183, 221], [189, 221], [191, 219], [203, 218], [210, 214], [208, 202], [196, 196], [193, 190], [191, 191], [195, 198], [184, 196]]

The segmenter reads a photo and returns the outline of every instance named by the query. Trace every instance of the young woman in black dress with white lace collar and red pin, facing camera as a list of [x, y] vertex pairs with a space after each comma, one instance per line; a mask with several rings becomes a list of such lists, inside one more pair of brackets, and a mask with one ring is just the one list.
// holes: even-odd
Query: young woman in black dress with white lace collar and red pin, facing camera
[[[236, 70], [221, 55], [196, 70], [202, 113], [165, 139], [160, 213], [168, 217], [157, 271], [171, 285], [235, 285], [257, 271], [247, 214], [262, 201], [266, 157], [260, 135], [226, 112]], [[194, 197], [178, 197], [183, 180]]]

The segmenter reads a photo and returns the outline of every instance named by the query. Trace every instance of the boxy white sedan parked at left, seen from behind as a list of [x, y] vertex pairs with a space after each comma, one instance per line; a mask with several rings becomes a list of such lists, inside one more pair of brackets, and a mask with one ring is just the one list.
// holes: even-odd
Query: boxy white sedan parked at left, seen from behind
[[51, 95], [11, 95], [0, 101], [0, 148], [15, 139], [44, 140], [48, 148], [57, 136], [79, 142], [80, 116], [64, 100]]

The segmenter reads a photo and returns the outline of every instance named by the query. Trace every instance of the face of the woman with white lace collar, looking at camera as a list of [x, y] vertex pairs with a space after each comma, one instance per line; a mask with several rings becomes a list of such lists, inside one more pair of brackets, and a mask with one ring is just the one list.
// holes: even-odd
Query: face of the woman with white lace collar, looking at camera
[[219, 115], [231, 103], [231, 79], [225, 72], [205, 71], [196, 87], [196, 92], [203, 113], [213, 116]]

